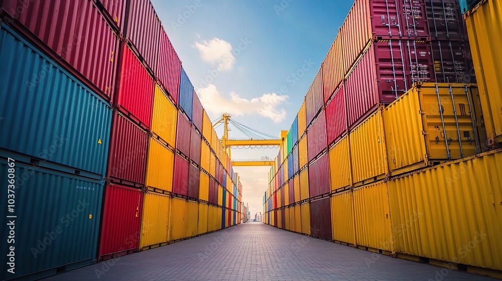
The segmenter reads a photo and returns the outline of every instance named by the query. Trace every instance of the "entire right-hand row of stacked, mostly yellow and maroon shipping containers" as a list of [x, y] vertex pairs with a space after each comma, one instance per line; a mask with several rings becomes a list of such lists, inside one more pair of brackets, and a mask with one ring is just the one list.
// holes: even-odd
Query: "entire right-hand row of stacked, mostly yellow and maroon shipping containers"
[[[494, 14], [501, 10], [482, 1], [464, 15], [465, 25], [456, 1], [379, 3], [356, 0], [342, 25], [290, 129], [297, 135], [288, 134], [271, 168], [264, 222], [497, 275], [490, 271], [502, 269], [497, 242], [483, 240], [462, 258], [456, 249], [479, 231], [498, 231], [478, 222], [499, 224], [500, 206], [492, 209], [488, 198], [490, 190], [502, 194], [494, 165], [501, 155], [500, 40], [488, 38], [500, 30]], [[364, 24], [355, 15], [372, 17]], [[439, 45], [452, 56], [434, 52]], [[481, 46], [486, 52], [477, 51]], [[469, 83], [475, 77], [479, 84]], [[431, 234], [438, 221], [452, 222], [441, 226], [440, 238]], [[438, 239], [447, 250], [438, 249]]]

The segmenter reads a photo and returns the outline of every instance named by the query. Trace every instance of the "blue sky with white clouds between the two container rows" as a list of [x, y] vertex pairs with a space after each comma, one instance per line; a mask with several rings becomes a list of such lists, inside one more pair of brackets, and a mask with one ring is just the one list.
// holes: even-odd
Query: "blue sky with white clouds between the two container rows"
[[[211, 120], [280, 136], [289, 130], [353, 1], [151, 0]], [[230, 138], [246, 138], [230, 126]], [[222, 126], [216, 129], [219, 137]], [[275, 149], [232, 149], [232, 160]], [[251, 214], [263, 210], [270, 167], [234, 167]]]

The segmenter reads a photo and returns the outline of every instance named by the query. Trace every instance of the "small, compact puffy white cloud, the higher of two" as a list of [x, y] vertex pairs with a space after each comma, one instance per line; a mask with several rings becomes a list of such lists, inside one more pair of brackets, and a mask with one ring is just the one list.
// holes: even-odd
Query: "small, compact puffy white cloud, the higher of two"
[[235, 62], [232, 45], [225, 40], [213, 38], [209, 41], [195, 42], [200, 52], [200, 58], [208, 63], [217, 65], [219, 71], [231, 70]]

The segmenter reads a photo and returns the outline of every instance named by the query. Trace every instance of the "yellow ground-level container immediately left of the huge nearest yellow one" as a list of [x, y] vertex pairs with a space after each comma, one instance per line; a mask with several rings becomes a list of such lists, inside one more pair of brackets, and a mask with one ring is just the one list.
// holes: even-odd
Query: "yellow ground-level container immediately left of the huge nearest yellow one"
[[354, 189], [357, 244], [394, 252], [387, 182]]

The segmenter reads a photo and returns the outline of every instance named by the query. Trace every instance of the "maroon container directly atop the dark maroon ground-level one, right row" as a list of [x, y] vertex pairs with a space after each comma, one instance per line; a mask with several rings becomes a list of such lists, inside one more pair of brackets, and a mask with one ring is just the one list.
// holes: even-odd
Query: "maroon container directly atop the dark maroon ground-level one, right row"
[[330, 192], [329, 159], [325, 153], [309, 164], [309, 197], [314, 198]]

